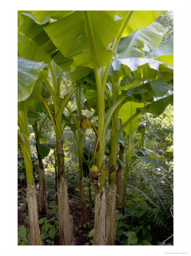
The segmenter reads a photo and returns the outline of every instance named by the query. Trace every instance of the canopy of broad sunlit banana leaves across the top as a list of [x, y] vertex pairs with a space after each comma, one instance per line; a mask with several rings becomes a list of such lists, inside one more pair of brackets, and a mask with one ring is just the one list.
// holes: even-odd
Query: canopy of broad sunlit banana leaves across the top
[[[88, 12], [99, 68], [111, 60], [113, 42], [128, 12]], [[141, 108], [141, 102], [152, 102], [155, 96], [164, 95], [172, 88], [162, 86], [162, 90], [164, 87], [165, 89], [164, 92], [157, 92], [160, 95], [153, 93], [153, 88], [149, 88], [152, 92], [150, 94], [148, 88], [147, 91], [138, 93], [138, 90], [143, 89], [141, 85], [135, 90], [129, 90], [137, 81], [168, 82], [173, 78], [173, 66], [170, 65], [173, 64], [173, 40], [160, 44], [167, 30], [154, 22], [162, 13], [163, 11], [134, 11], [113, 57], [108, 82], [121, 81], [124, 86], [122, 89], [128, 89], [129, 101], [134, 102], [127, 102], [123, 109], [131, 105], [130, 116], [135, 113], [136, 104], [137, 108]], [[96, 82], [84, 12], [23, 11], [19, 15], [19, 56], [43, 60], [45, 63], [53, 59], [63, 71], [70, 71], [68, 75], [73, 82], [87, 85], [84, 95], [88, 106], [94, 108], [97, 104]], [[151, 53], [148, 47], [153, 49]], [[152, 85], [148, 83], [144, 86], [153, 87]], [[159, 83], [155, 87], [158, 85]], [[126, 128], [128, 130], [129, 126]]]

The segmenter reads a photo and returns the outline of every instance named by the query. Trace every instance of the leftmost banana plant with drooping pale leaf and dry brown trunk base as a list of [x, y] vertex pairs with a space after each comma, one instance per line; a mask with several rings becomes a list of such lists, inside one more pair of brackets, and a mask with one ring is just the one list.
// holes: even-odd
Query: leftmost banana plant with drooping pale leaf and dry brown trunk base
[[43, 62], [38, 63], [18, 57], [18, 142], [22, 148], [26, 165], [30, 245], [41, 245], [41, 239], [35, 182], [32, 172], [27, 110], [29, 106], [33, 105], [36, 96], [41, 93], [44, 68], [45, 64]]

